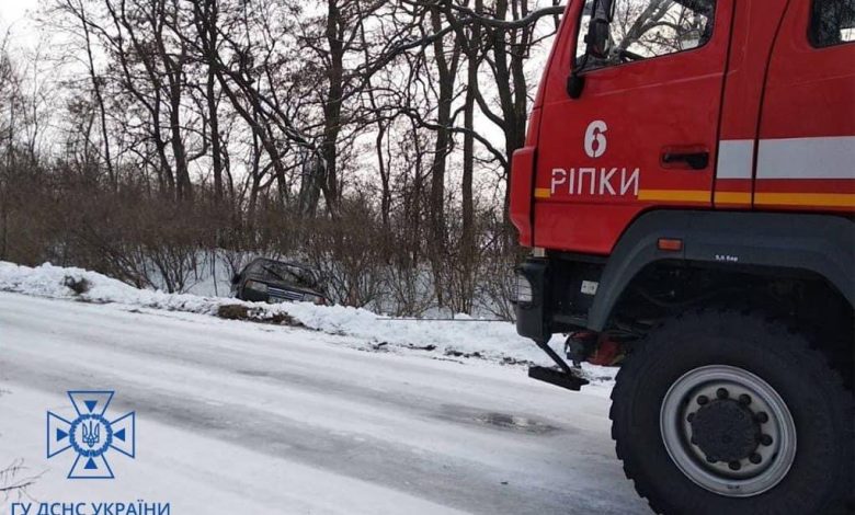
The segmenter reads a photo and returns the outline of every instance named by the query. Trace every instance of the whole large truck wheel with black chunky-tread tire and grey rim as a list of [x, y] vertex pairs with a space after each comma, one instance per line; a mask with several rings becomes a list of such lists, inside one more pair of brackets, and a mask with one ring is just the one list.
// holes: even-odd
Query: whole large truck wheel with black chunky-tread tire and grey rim
[[657, 513], [853, 513], [853, 393], [782, 322], [670, 319], [632, 348], [612, 401], [617, 456]]

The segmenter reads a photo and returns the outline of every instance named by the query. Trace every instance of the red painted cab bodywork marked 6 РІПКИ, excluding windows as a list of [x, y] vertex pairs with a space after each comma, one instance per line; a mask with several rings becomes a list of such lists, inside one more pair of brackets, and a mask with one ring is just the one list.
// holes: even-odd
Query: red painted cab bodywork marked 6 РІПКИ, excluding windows
[[706, 44], [584, 71], [571, 99], [583, 3], [513, 160], [522, 244], [606, 255], [654, 208], [855, 211], [855, 44], [813, 47], [809, 1], [719, 0]]

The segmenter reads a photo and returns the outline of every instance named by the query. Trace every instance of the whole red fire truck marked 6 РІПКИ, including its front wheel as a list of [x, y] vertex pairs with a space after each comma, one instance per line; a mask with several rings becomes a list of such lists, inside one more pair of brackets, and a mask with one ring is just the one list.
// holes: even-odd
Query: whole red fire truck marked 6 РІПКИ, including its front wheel
[[517, 331], [536, 379], [620, 365], [659, 513], [855, 512], [854, 41], [855, 0], [567, 8], [513, 158]]

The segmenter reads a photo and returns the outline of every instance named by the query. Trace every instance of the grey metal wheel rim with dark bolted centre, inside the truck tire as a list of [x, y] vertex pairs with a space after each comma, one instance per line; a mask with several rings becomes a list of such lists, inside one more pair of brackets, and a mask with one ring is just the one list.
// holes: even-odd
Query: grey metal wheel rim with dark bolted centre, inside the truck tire
[[796, 457], [796, 425], [775, 389], [742, 368], [695, 368], [668, 390], [662, 443], [677, 468], [720, 495], [761, 494], [780, 482]]

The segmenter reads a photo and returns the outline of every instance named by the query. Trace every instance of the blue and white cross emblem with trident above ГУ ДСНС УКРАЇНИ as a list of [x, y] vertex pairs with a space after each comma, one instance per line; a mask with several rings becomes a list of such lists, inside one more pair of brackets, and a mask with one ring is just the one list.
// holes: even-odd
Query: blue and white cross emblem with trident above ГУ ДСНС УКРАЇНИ
[[106, 415], [113, 391], [69, 391], [77, 417], [67, 421], [47, 412], [47, 457], [68, 449], [77, 454], [68, 479], [113, 479], [107, 453], [113, 449], [134, 458], [136, 455], [135, 414], [117, 419]]

